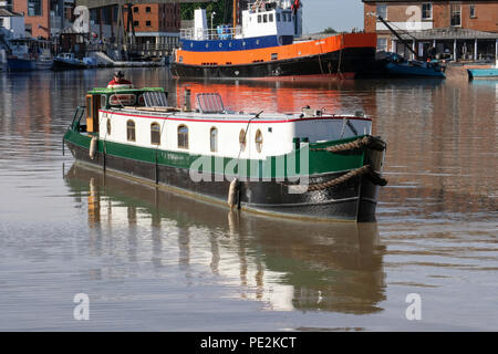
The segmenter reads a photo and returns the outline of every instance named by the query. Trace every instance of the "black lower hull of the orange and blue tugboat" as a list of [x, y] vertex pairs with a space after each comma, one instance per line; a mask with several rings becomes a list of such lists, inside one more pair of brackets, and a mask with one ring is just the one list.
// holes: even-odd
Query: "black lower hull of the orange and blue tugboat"
[[351, 48], [291, 60], [245, 65], [186, 65], [172, 63], [172, 73], [179, 77], [271, 79], [286, 76], [339, 76], [354, 79], [371, 70], [375, 61], [374, 48]]

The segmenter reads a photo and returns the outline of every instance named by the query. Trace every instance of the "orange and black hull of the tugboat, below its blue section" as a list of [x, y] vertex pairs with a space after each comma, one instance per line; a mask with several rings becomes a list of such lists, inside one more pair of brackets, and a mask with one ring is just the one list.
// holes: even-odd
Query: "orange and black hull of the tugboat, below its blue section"
[[354, 79], [375, 61], [375, 33], [344, 33], [288, 45], [240, 51], [177, 50], [172, 72], [179, 77]]

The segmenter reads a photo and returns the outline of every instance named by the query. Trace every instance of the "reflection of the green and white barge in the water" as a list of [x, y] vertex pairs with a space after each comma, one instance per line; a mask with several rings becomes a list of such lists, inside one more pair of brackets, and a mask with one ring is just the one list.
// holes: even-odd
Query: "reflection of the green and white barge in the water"
[[229, 212], [77, 163], [65, 180], [86, 204], [89, 243], [100, 256], [117, 252], [132, 263], [145, 257], [157, 271], [176, 259], [187, 284], [200, 266], [201, 273], [218, 275], [239, 289], [238, 296], [262, 301], [268, 310], [373, 313], [385, 300], [375, 223], [313, 225]]

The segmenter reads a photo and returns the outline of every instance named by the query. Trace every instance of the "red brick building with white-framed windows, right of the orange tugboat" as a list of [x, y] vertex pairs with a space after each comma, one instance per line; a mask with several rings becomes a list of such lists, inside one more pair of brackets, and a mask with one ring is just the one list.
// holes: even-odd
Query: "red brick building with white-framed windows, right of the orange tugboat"
[[377, 33], [377, 50], [408, 55], [376, 15], [407, 41], [419, 56], [429, 48], [457, 60], [492, 59], [498, 45], [498, 0], [362, 0], [364, 29]]

